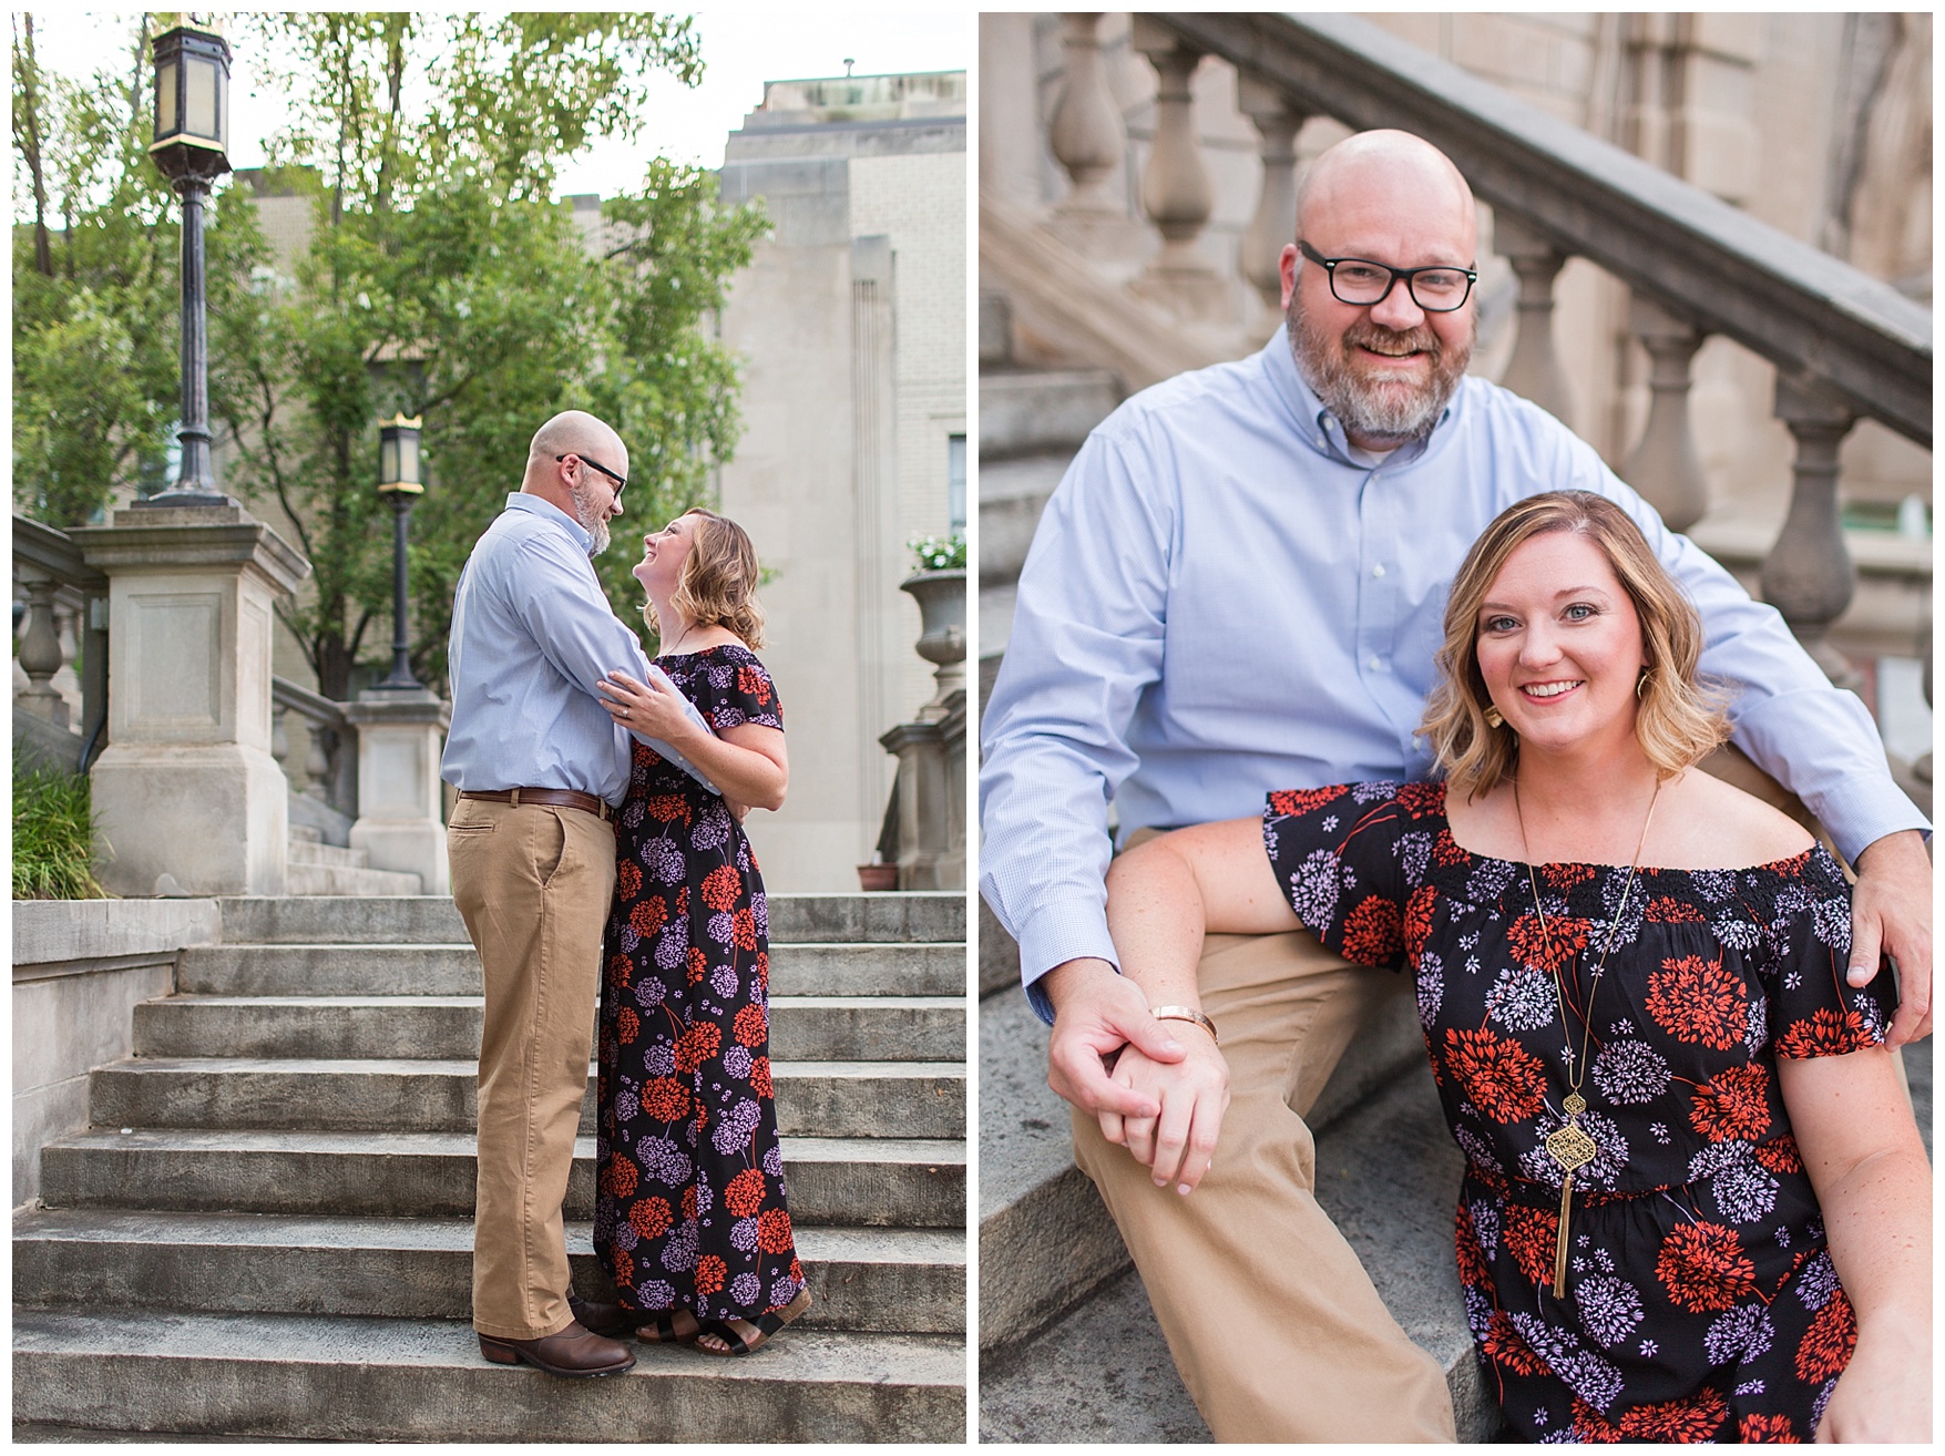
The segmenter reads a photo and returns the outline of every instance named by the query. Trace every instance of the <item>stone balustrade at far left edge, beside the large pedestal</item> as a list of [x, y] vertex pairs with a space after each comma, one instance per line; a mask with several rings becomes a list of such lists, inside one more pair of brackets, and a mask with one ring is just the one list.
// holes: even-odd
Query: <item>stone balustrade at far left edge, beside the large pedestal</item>
[[107, 746], [107, 591], [66, 533], [14, 515], [16, 752], [70, 774]]

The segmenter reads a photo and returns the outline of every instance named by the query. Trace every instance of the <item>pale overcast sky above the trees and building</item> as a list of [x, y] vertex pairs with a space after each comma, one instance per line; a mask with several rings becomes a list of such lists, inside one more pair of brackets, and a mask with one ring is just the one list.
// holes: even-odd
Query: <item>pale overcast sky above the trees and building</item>
[[[198, 12], [200, 14], [200, 12]], [[902, 70], [967, 70], [972, 60], [972, 17], [959, 8], [829, 10], [825, 6], [737, 6], [698, 10], [702, 84], [687, 89], [655, 78], [650, 122], [634, 144], [599, 146], [560, 171], [556, 192], [613, 194], [634, 185], [646, 157], [720, 167], [724, 140], [743, 115], [762, 101], [764, 82], [842, 76], [844, 58], [858, 76]], [[33, 39], [41, 64], [68, 76], [88, 76], [103, 62], [121, 66], [128, 12], [35, 12]], [[16, 31], [19, 21], [16, 17]], [[231, 64], [231, 148], [235, 167], [263, 165], [263, 138], [280, 117], [272, 99], [255, 95], [257, 76], [239, 25], [226, 25]]]

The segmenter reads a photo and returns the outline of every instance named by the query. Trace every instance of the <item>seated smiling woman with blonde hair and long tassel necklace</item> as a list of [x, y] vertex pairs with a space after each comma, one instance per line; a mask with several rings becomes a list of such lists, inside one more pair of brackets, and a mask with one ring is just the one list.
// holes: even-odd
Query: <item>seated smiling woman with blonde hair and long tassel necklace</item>
[[[1552, 492], [1474, 542], [1426, 710], [1443, 781], [1278, 791], [1109, 873], [1122, 970], [1200, 1015], [1204, 931], [1307, 927], [1408, 966], [1467, 1159], [1457, 1254], [1488, 1388], [1531, 1440], [1927, 1440], [1931, 1174], [1846, 982], [1836, 861], [1702, 774], [1727, 725], [1700, 622], [1612, 502]], [[1155, 1120], [1188, 1192], [1216, 1028]], [[1109, 1126], [1113, 1124], [1113, 1126]]]

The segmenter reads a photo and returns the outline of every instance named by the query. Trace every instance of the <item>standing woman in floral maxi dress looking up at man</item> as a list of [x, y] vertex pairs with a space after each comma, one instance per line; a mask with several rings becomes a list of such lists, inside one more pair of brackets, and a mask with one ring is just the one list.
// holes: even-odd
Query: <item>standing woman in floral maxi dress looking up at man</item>
[[644, 537], [634, 577], [673, 690], [611, 673], [607, 708], [718, 791], [636, 739], [597, 1042], [595, 1252], [638, 1337], [747, 1355], [811, 1306], [776, 1143], [768, 916], [739, 822], [784, 803], [784, 717], [751, 651], [757, 550], [735, 521], [679, 515]]

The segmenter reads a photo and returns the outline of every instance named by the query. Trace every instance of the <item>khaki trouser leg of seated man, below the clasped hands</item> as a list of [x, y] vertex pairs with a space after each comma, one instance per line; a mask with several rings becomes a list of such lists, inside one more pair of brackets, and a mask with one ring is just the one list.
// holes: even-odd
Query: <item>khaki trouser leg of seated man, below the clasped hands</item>
[[1231, 1102], [1210, 1174], [1186, 1197], [1074, 1116], [1074, 1161], [1114, 1215], [1218, 1440], [1457, 1439], [1443, 1370], [1311, 1194], [1315, 1143], [1295, 1110], [1323, 1091], [1391, 976], [1303, 931], [1208, 937], [1198, 978]]

